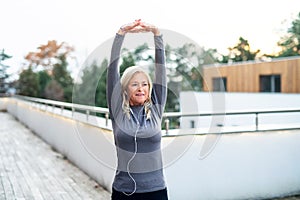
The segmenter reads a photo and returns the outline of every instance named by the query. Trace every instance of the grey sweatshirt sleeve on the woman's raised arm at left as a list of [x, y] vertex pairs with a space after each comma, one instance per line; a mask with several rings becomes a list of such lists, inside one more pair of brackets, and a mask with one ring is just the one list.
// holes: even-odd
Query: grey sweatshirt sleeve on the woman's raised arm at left
[[119, 102], [113, 102], [112, 98], [114, 90], [119, 90], [121, 88], [120, 85], [120, 72], [119, 72], [119, 59], [120, 59], [120, 52], [121, 46], [124, 41], [124, 35], [116, 34], [110, 55], [110, 63], [107, 69], [107, 79], [106, 79], [106, 96], [107, 96], [107, 104], [110, 112], [112, 111], [112, 106], [118, 104]]

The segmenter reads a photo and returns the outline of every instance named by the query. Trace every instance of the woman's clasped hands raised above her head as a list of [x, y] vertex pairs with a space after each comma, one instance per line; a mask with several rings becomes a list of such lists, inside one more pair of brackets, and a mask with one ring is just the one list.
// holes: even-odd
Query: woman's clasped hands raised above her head
[[126, 33], [145, 33], [152, 32], [155, 36], [160, 35], [159, 29], [156, 26], [142, 22], [140, 19], [132, 23], [121, 26], [118, 34], [125, 35]]

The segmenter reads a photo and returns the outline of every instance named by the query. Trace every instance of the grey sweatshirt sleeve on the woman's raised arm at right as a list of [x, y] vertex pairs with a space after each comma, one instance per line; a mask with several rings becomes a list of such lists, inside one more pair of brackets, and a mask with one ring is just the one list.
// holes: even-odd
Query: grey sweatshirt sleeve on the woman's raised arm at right
[[153, 81], [153, 101], [159, 104], [159, 114], [162, 116], [167, 100], [167, 77], [165, 63], [165, 48], [162, 35], [154, 36], [155, 43], [155, 79]]

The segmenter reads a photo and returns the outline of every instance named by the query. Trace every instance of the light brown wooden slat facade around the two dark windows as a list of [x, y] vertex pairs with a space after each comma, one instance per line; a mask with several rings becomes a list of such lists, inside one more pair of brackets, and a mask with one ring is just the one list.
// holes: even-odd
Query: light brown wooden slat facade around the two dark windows
[[227, 92], [260, 92], [260, 76], [280, 75], [282, 93], [300, 93], [300, 57], [269, 62], [204, 66], [204, 91], [213, 91], [214, 78], [226, 78]]

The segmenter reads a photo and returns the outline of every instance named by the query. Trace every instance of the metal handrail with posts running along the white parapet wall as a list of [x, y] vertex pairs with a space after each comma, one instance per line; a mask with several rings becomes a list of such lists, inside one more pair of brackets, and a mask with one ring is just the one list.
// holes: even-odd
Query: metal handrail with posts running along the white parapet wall
[[[108, 127], [109, 125], [109, 109], [96, 107], [96, 106], [89, 106], [89, 105], [82, 105], [82, 104], [75, 104], [75, 103], [67, 103], [67, 102], [60, 102], [54, 101], [49, 99], [40, 99], [34, 97], [27, 97], [27, 96], [20, 96], [14, 95], [13, 97], [27, 100], [34, 103], [41, 103], [46, 105], [51, 105], [54, 107], [61, 107], [61, 109], [70, 108], [72, 110], [72, 116], [76, 110], [85, 111], [86, 119], [88, 120], [90, 112], [100, 113], [105, 115], [105, 126]], [[261, 110], [248, 110], [248, 111], [230, 111], [230, 112], [202, 112], [202, 113], [187, 113], [187, 112], [165, 112], [163, 114], [164, 118], [164, 125], [165, 125], [165, 133], [168, 134], [170, 130], [170, 118], [182, 118], [182, 117], [213, 117], [213, 116], [230, 116], [230, 115], [255, 115], [255, 131], [259, 131], [259, 115], [261, 114], [274, 114], [274, 113], [294, 113], [299, 112], [300, 108], [289, 108], [289, 109], [261, 109]], [[299, 127], [300, 128], [300, 127]]]

